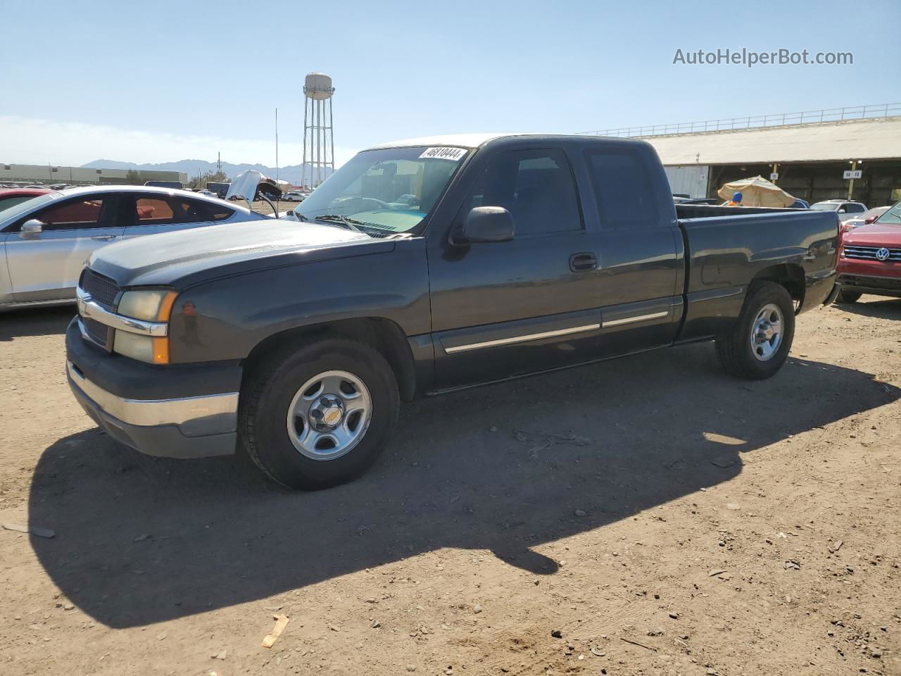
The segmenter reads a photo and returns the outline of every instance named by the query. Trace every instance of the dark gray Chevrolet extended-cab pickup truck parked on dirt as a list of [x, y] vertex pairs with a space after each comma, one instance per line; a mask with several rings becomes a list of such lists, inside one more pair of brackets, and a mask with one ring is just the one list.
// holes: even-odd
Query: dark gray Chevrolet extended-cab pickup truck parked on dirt
[[88, 260], [68, 379], [98, 425], [154, 455], [241, 443], [313, 489], [375, 461], [401, 400], [710, 340], [768, 378], [839, 237], [833, 212], [674, 206], [649, 144], [585, 136], [388, 143], [293, 217]]

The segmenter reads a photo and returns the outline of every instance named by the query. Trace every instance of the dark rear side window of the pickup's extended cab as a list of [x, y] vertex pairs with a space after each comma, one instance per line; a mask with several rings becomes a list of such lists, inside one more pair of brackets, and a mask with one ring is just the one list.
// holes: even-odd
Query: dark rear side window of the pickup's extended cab
[[660, 224], [656, 195], [642, 158], [631, 151], [587, 151], [601, 227], [612, 230]]

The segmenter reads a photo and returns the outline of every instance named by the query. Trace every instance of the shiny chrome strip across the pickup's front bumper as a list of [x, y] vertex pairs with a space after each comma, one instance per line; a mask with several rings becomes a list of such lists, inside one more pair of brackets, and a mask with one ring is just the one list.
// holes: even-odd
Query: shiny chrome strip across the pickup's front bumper
[[233, 432], [238, 417], [238, 393], [177, 399], [128, 399], [117, 397], [86, 379], [71, 361], [68, 379], [109, 416], [128, 425], [178, 425], [188, 436]]

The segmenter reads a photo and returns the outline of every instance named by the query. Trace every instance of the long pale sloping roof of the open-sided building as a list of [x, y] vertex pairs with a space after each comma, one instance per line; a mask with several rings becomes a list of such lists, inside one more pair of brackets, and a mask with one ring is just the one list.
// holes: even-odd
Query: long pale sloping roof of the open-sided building
[[901, 159], [901, 116], [643, 140], [666, 165]]

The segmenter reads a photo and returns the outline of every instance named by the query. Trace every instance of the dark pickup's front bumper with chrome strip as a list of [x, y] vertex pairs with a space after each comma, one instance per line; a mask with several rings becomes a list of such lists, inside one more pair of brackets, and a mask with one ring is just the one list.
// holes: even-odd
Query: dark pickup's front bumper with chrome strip
[[[191, 367], [187, 373], [148, 367], [87, 344], [75, 322], [69, 326], [66, 343], [72, 393], [87, 415], [116, 441], [168, 458], [234, 452], [240, 382], [237, 365]], [[193, 387], [182, 387], [188, 380]], [[232, 382], [232, 388], [226, 389], [234, 391], [198, 393], [196, 383], [204, 380], [207, 385]], [[177, 393], [189, 396], [173, 396]]]

